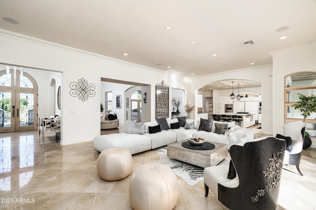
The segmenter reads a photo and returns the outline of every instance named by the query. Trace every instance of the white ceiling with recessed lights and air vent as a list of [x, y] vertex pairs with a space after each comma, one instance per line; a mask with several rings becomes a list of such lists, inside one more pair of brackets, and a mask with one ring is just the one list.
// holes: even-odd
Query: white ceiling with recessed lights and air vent
[[0, 0], [0, 29], [192, 77], [314, 43], [316, 0]]

